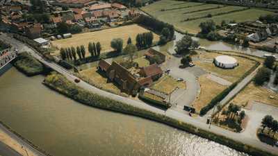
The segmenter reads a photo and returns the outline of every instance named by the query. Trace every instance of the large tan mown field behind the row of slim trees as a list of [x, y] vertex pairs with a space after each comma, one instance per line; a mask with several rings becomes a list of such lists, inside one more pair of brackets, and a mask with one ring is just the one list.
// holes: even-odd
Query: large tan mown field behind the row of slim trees
[[[126, 45], [126, 41], [129, 37], [131, 37], [132, 42], [136, 43], [136, 35], [138, 33], [145, 33], [149, 30], [138, 26], [137, 24], [129, 25], [129, 26], [121, 26], [118, 28], [109, 28], [103, 31], [95, 31], [90, 33], [79, 33], [76, 35], [72, 35], [71, 38], [63, 39], [63, 40], [54, 40], [51, 44], [58, 49], [61, 47], [67, 48], [69, 46], [80, 46], [84, 45], [86, 47], [86, 56], [90, 55], [88, 53], [88, 43], [89, 42], [100, 42], [101, 43], [101, 52], [112, 51], [111, 48], [111, 40], [114, 38], [122, 38], [124, 40], [124, 46]], [[154, 42], [158, 41], [159, 36], [154, 33]], [[55, 55], [60, 55], [59, 50], [55, 51]]]

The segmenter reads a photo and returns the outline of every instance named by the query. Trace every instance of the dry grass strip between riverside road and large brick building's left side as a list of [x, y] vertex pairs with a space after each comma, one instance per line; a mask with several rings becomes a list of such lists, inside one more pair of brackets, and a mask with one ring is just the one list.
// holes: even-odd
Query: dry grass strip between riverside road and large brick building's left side
[[93, 83], [100, 89], [109, 90], [115, 94], [124, 94], [113, 83], [107, 83], [107, 78], [101, 76], [101, 74], [97, 72], [97, 67], [92, 67], [90, 69], [80, 71], [80, 73], [83, 78], [88, 78], [90, 80], [90, 83]]

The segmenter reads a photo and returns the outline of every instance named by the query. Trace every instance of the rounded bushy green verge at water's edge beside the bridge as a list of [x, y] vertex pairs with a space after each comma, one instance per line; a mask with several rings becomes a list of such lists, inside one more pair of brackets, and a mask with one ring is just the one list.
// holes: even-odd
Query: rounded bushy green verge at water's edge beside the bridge
[[35, 76], [45, 71], [44, 65], [26, 52], [17, 56], [14, 66], [27, 76]]

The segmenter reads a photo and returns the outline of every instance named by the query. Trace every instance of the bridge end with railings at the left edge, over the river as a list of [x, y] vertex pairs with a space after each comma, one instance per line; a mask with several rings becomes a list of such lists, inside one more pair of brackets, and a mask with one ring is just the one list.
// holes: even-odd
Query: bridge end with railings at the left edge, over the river
[[17, 50], [4, 49], [3, 51], [0, 51], [0, 69], [5, 67], [16, 57], [17, 57]]

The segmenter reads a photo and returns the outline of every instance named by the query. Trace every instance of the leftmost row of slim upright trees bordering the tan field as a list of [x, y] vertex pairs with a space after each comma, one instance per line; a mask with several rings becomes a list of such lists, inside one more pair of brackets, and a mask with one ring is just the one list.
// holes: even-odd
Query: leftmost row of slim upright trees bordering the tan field
[[79, 56], [79, 59], [85, 58], [85, 46], [72, 46], [71, 48], [61, 48], [60, 56], [62, 60], [78, 60], [76, 54]]

